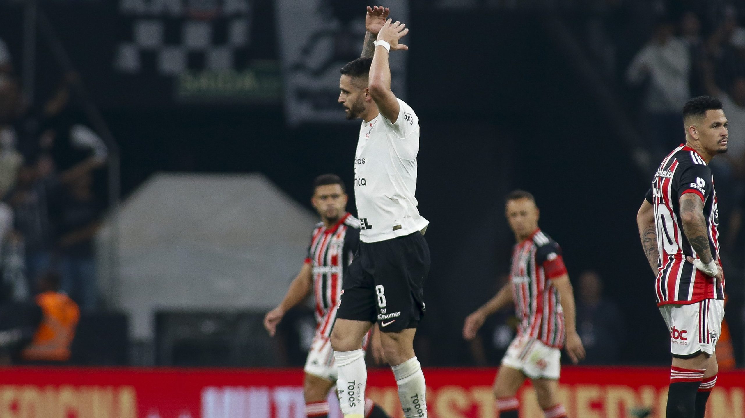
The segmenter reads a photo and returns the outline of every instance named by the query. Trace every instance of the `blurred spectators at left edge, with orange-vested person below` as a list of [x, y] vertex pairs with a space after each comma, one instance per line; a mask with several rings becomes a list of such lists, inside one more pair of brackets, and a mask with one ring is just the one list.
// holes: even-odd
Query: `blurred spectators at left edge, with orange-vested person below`
[[[14, 58], [0, 40], [0, 342], [15, 357], [26, 347], [23, 358], [63, 361], [78, 306], [100, 307], [93, 240], [105, 205], [94, 183], [107, 147], [70, 110], [75, 74], [32, 103]], [[49, 321], [67, 335], [47, 329], [63, 343], [34, 358], [29, 347]]]

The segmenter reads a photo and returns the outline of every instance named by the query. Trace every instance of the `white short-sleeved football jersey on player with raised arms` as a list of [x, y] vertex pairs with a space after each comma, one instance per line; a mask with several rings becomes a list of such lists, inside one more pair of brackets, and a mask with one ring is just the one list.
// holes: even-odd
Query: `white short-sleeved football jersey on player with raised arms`
[[378, 114], [362, 123], [355, 155], [355, 200], [362, 242], [378, 242], [421, 231], [429, 221], [419, 215], [416, 154], [419, 118], [399, 100], [399, 118]]

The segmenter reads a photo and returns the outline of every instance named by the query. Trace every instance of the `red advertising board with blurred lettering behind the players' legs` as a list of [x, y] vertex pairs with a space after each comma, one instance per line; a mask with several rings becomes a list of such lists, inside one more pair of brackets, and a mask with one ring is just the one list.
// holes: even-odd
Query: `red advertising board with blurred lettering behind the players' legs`
[[[428, 416], [496, 418], [495, 370], [427, 369]], [[561, 396], [569, 417], [665, 416], [669, 370], [566, 367]], [[0, 373], [0, 418], [304, 418], [301, 370], [41, 369]], [[745, 418], [745, 372], [720, 373], [707, 417]], [[370, 370], [367, 394], [401, 418], [390, 370]], [[535, 393], [520, 393], [521, 417], [542, 418]], [[332, 408], [330, 418], [340, 417]]]

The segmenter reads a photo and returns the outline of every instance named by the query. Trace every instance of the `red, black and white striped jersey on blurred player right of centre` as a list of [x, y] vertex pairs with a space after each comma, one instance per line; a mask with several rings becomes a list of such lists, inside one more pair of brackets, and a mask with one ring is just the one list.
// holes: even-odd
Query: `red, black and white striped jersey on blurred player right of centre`
[[536, 230], [515, 245], [510, 271], [518, 335], [536, 338], [549, 347], [564, 345], [564, 313], [551, 279], [566, 274], [561, 248]]

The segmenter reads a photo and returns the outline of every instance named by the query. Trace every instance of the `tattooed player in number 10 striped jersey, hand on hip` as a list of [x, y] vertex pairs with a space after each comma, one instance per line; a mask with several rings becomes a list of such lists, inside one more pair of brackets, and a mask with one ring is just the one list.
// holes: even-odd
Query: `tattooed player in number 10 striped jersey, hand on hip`
[[683, 123], [685, 145], [662, 160], [636, 222], [670, 329], [667, 416], [703, 418], [717, 382], [714, 346], [724, 317], [717, 193], [708, 163], [727, 151], [727, 119], [719, 99], [701, 96], [685, 103]]

